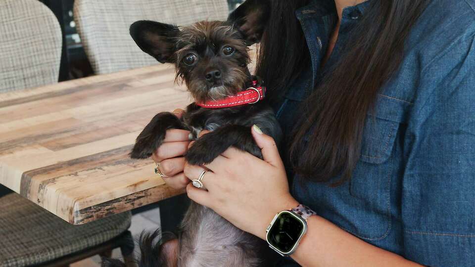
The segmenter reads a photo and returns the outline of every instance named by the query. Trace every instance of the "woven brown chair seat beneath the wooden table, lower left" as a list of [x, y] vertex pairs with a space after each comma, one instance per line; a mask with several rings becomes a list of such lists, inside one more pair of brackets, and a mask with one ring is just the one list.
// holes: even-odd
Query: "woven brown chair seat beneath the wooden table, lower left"
[[71, 225], [16, 193], [0, 198], [0, 267], [64, 267], [120, 247], [130, 263], [129, 212]]

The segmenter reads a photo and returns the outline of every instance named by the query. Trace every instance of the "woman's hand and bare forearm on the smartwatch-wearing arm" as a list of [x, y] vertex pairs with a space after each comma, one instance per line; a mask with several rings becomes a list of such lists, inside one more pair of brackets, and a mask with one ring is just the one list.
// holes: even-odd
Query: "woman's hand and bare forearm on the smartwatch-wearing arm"
[[[193, 201], [210, 207], [238, 228], [262, 239], [276, 213], [298, 205], [288, 191], [284, 165], [274, 140], [252, 130], [264, 160], [229, 148], [204, 167], [208, 191], [188, 184]], [[205, 170], [185, 165], [185, 175], [196, 179]], [[305, 204], [305, 203], [303, 203]], [[373, 246], [319, 216], [308, 219], [308, 231], [292, 258], [301, 266], [419, 266]]]

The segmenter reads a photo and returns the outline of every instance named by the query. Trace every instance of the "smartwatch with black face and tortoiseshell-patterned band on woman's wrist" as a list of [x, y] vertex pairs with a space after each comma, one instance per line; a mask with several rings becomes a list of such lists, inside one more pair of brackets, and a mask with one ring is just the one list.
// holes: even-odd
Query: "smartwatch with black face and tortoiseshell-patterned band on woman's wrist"
[[276, 214], [266, 229], [269, 247], [282, 256], [290, 256], [307, 232], [307, 219], [312, 215], [316, 213], [301, 204]]

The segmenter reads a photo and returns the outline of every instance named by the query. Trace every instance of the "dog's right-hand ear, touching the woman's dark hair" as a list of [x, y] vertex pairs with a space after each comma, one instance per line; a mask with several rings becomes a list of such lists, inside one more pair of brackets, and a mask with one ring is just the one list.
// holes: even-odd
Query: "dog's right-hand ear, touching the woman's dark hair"
[[247, 45], [259, 43], [270, 16], [269, 0], [246, 0], [228, 17], [239, 27]]

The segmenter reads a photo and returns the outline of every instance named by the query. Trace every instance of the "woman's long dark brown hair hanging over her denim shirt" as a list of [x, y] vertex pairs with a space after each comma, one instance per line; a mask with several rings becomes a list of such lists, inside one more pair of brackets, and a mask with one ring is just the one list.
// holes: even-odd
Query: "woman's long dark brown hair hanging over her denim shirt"
[[[257, 74], [267, 81], [269, 88], [287, 88], [294, 75], [302, 71], [299, 62], [308, 57], [308, 50], [300, 49], [305, 41], [302, 31], [296, 29], [300, 26], [293, 11], [306, 2], [272, 1], [271, 24], [261, 40], [257, 64]], [[351, 177], [360, 156], [367, 114], [374, 108], [380, 88], [398, 70], [404, 42], [428, 2], [372, 0], [368, 3], [359, 26], [351, 33], [348, 42], [351, 45], [345, 47], [344, 56], [303, 104], [305, 119], [295, 129], [290, 147], [296, 173], [322, 182], [341, 175], [333, 185]], [[273, 24], [274, 20], [282, 22]], [[287, 38], [296, 36], [282, 40], [276, 35], [279, 32]], [[289, 45], [285, 40], [297, 43]], [[291, 50], [285, 52], [286, 47]], [[269, 69], [275, 72], [270, 73]], [[305, 136], [308, 142], [302, 151]]]

